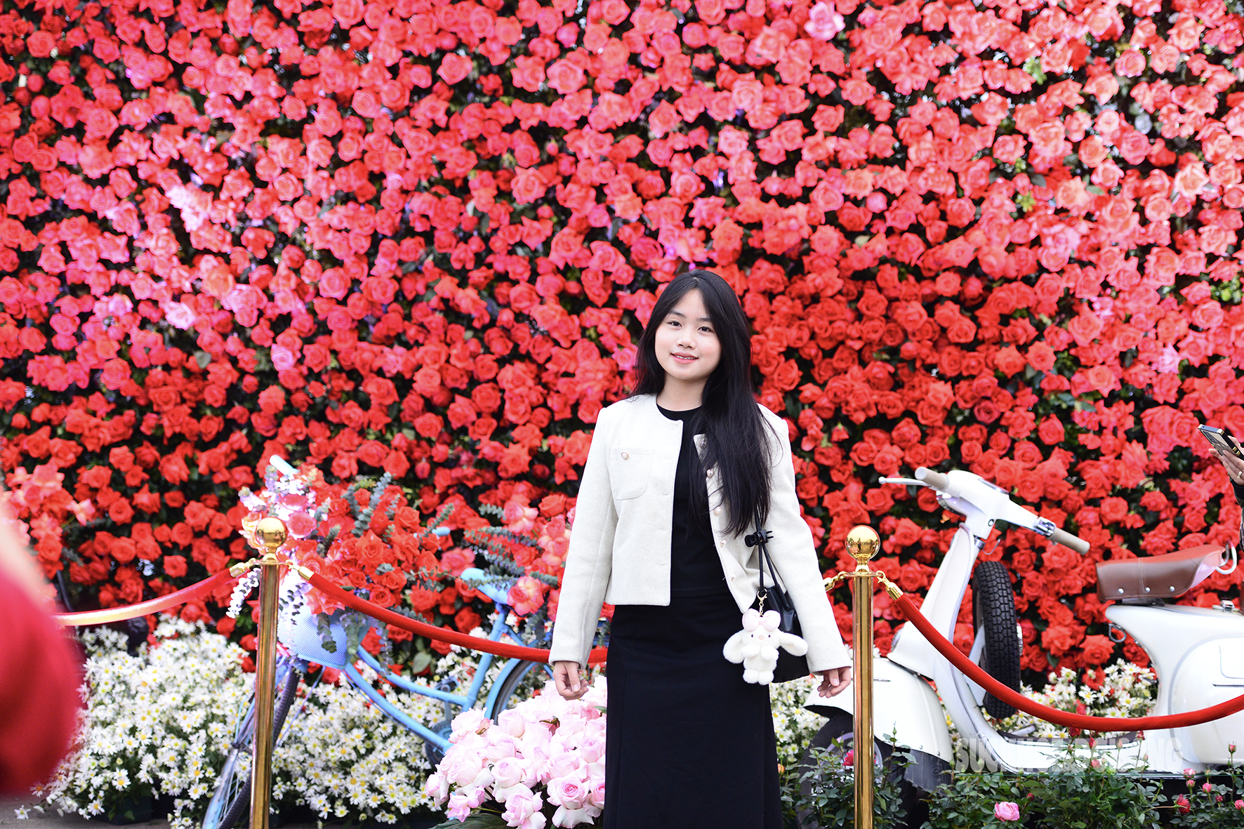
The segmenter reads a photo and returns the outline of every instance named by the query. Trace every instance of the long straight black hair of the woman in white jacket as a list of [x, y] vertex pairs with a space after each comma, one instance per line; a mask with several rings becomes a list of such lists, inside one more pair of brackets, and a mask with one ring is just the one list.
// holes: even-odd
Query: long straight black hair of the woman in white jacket
[[[657, 360], [657, 329], [689, 293], [699, 291], [722, 344], [722, 358], [704, 385], [700, 411], [684, 428], [704, 434], [704, 457], [692, 453], [692, 480], [704, 480], [704, 471], [717, 467], [722, 492], [730, 508], [726, 532], [739, 535], [769, 517], [771, 463], [765, 422], [751, 385], [751, 332], [734, 289], [710, 270], [679, 274], [657, 299], [639, 337], [636, 387], [632, 396], [657, 395], [666, 386], [666, 370]], [[692, 487], [693, 513], [707, 512], [700, 487]]]

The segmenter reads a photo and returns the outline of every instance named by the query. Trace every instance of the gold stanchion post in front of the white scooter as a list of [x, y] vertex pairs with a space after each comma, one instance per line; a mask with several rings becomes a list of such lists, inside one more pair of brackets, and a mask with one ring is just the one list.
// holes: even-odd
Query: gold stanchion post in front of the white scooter
[[872, 580], [877, 575], [868, 561], [877, 555], [881, 538], [871, 527], [856, 527], [847, 533], [847, 553], [856, 560], [856, 569], [845, 575], [851, 579], [855, 622], [855, 778], [856, 829], [872, 829], [873, 759], [872, 759]]

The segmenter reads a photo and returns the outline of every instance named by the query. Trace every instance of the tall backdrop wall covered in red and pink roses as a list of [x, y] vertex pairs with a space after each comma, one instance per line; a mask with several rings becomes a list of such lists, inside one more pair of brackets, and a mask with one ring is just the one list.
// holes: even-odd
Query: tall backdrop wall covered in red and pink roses
[[923, 591], [954, 523], [877, 479], [968, 468], [1092, 544], [996, 546], [1025, 667], [1143, 658], [1093, 561], [1240, 520], [1195, 431], [1244, 434], [1233, 7], [6, 2], [9, 508], [80, 607], [246, 555], [272, 452], [539, 534], [657, 289], [703, 266], [826, 570], [872, 523]]

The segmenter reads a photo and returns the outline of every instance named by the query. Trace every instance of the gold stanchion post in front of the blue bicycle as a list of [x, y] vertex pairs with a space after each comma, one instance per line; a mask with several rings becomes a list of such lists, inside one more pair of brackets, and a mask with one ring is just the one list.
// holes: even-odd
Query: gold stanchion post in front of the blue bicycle
[[264, 546], [259, 560], [259, 641], [255, 661], [255, 737], [251, 742], [250, 829], [267, 829], [272, 789], [272, 705], [276, 693], [276, 597], [281, 566], [276, 550], [285, 544], [285, 523], [264, 518], [255, 540]]

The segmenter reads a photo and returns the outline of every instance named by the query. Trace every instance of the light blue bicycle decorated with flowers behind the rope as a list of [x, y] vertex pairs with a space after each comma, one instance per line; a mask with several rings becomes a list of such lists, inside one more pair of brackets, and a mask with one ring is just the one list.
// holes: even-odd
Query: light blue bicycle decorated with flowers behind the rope
[[[500, 642], [508, 640], [515, 645], [529, 644], [506, 624], [506, 619], [510, 615], [510, 607], [506, 604], [509, 585], [486, 581], [485, 573], [475, 568], [464, 570], [460, 578], [471, 584], [480, 584], [476, 590], [491, 599], [496, 605], [496, 620], [493, 622], [493, 629], [488, 635], [490, 641]], [[347, 622], [353, 625], [362, 622], [366, 625], [362, 635], [366, 635], [369, 627], [383, 629], [382, 624], [363, 614], [350, 610], [333, 612], [330, 617], [328, 629], [336, 649], [330, 652], [321, 639], [316, 614], [312, 614], [301, 601], [305, 585], [306, 583], [295, 573], [290, 573], [281, 583], [281, 614], [276, 626], [280, 656], [276, 662], [276, 698], [272, 719], [274, 741], [280, 742], [281, 731], [297, 697], [299, 683], [307, 673], [309, 663], [315, 662], [341, 671], [350, 683], [366, 695], [387, 717], [422, 737], [428, 762], [433, 766], [439, 763], [449, 747], [450, 722], [454, 718], [454, 708], [465, 711], [475, 707], [484, 695], [485, 677], [495, 657], [491, 653], [484, 653], [479, 660], [479, 666], [475, 670], [470, 687], [464, 693], [457, 693], [457, 683], [452, 678], [443, 680], [435, 686], [412, 682], [393, 673], [362, 647], [358, 649], [358, 658], [389, 685], [409, 691], [411, 693], [439, 700], [444, 703], [444, 718], [429, 728], [412, 719], [379, 693], [371, 682], [363, 678], [355, 667], [353, 661], [347, 656]], [[486, 697], [484, 698], [484, 714], [490, 719], [495, 719], [498, 713], [530, 696], [534, 683], [542, 682], [541, 673], [551, 676], [550, 666], [520, 658], [506, 660], [501, 666], [500, 673], [498, 673], [488, 688]], [[320, 676], [323, 676], [323, 671], [320, 672]], [[320, 677], [316, 677], [311, 688], [318, 683], [318, 680]], [[254, 693], [243, 705], [240, 714], [233, 742], [230, 743], [229, 756], [220, 770], [215, 793], [211, 795], [207, 814], [203, 818], [203, 829], [230, 829], [234, 825], [246, 823], [249, 819], [249, 757], [251, 738], [255, 733]], [[297, 712], [295, 712], [296, 714]]]

